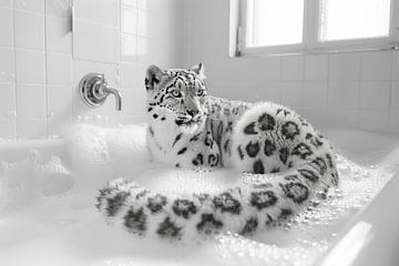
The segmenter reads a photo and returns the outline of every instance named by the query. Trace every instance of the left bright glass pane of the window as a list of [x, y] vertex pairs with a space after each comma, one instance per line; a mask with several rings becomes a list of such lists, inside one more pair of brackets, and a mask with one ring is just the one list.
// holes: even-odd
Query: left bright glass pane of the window
[[247, 45], [303, 42], [304, 0], [248, 0]]

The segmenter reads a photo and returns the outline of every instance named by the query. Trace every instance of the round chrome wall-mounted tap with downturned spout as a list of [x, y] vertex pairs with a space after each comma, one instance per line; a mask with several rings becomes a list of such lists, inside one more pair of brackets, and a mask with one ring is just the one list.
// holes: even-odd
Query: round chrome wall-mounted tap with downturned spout
[[122, 110], [121, 92], [110, 88], [104, 79], [104, 74], [90, 73], [83, 76], [79, 83], [80, 95], [83, 102], [90, 108], [101, 106], [110, 94], [116, 100], [116, 110]]

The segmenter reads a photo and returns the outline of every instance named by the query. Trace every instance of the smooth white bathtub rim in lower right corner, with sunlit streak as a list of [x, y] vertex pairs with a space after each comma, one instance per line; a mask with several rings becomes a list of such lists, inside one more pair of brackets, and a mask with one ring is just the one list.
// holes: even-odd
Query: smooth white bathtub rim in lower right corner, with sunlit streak
[[[332, 241], [332, 245], [316, 260], [315, 265], [329, 266], [395, 266], [399, 262], [399, 231], [395, 228], [399, 225], [399, 212], [390, 212], [387, 218], [387, 207], [395, 204], [392, 198], [399, 195], [399, 173], [395, 174], [379, 193], [364, 206], [362, 211], [355, 215], [346, 226], [340, 229], [338, 236]], [[393, 209], [393, 208], [392, 208]], [[342, 247], [355, 244], [360, 239], [351, 239], [354, 232], [359, 225], [366, 225], [369, 231], [364, 232], [365, 242], [352, 254], [350, 249]], [[335, 257], [332, 257], [332, 255]], [[339, 262], [337, 262], [339, 258]]]

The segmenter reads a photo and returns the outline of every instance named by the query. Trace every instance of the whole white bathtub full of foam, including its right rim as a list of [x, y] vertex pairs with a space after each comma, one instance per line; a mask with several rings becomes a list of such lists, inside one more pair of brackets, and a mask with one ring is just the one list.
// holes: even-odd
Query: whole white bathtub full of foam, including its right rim
[[[323, 225], [329, 219], [323, 222], [321, 202], [309, 211], [313, 219], [277, 224], [262, 236], [168, 243], [109, 226], [94, 207], [96, 190], [108, 180], [153, 167], [144, 130], [79, 125], [63, 139], [0, 142], [0, 265], [398, 264], [398, 136], [323, 130], [341, 155], [348, 190], [361, 193], [361, 182], [371, 184], [367, 198], [332, 206], [345, 213], [338, 221], [327, 215], [332, 225]], [[334, 195], [336, 203], [345, 201], [345, 192]]]

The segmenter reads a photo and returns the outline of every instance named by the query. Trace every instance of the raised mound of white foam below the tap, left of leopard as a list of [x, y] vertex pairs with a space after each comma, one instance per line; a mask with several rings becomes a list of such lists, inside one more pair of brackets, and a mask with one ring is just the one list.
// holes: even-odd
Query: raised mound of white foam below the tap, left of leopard
[[120, 176], [140, 174], [149, 168], [145, 125], [104, 129], [76, 124], [65, 135], [72, 171], [79, 187], [91, 190]]

